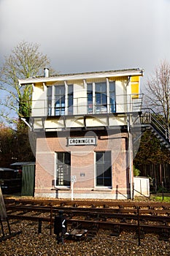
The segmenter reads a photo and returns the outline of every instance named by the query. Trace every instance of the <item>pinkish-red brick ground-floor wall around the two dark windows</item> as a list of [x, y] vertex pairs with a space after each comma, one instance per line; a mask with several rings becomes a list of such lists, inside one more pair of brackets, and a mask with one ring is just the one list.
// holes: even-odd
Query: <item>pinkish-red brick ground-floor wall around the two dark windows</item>
[[[57, 135], [57, 133], [56, 133]], [[53, 188], [55, 171], [55, 152], [71, 152], [71, 175], [77, 176], [75, 189], [95, 187], [95, 154], [96, 151], [112, 151], [112, 192], [127, 193], [128, 187], [128, 154], [127, 134], [117, 133], [103, 135], [98, 133], [97, 146], [67, 146], [65, 137], [37, 138], [36, 141], [36, 193], [50, 191]], [[62, 134], [63, 135], [63, 134]], [[73, 134], [70, 137], [84, 137]]]

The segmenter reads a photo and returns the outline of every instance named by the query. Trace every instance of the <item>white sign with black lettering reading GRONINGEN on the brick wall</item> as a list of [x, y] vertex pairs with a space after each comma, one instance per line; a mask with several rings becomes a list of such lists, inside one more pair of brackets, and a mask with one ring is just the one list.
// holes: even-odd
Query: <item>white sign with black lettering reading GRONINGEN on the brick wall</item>
[[68, 138], [69, 146], [96, 145], [96, 138]]

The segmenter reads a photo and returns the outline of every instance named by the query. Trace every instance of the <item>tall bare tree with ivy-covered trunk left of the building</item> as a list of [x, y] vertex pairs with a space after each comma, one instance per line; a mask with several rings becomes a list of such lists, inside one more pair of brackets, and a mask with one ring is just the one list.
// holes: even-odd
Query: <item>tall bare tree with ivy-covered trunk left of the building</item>
[[[4, 91], [6, 97], [0, 99], [0, 105], [5, 107], [1, 116], [8, 121], [11, 121], [12, 112], [19, 118], [30, 116], [32, 86], [19, 86], [18, 78], [41, 76], [45, 67], [50, 67], [50, 60], [39, 51], [39, 45], [25, 41], [4, 58], [0, 69], [0, 91]], [[54, 72], [53, 69], [50, 72]]]

